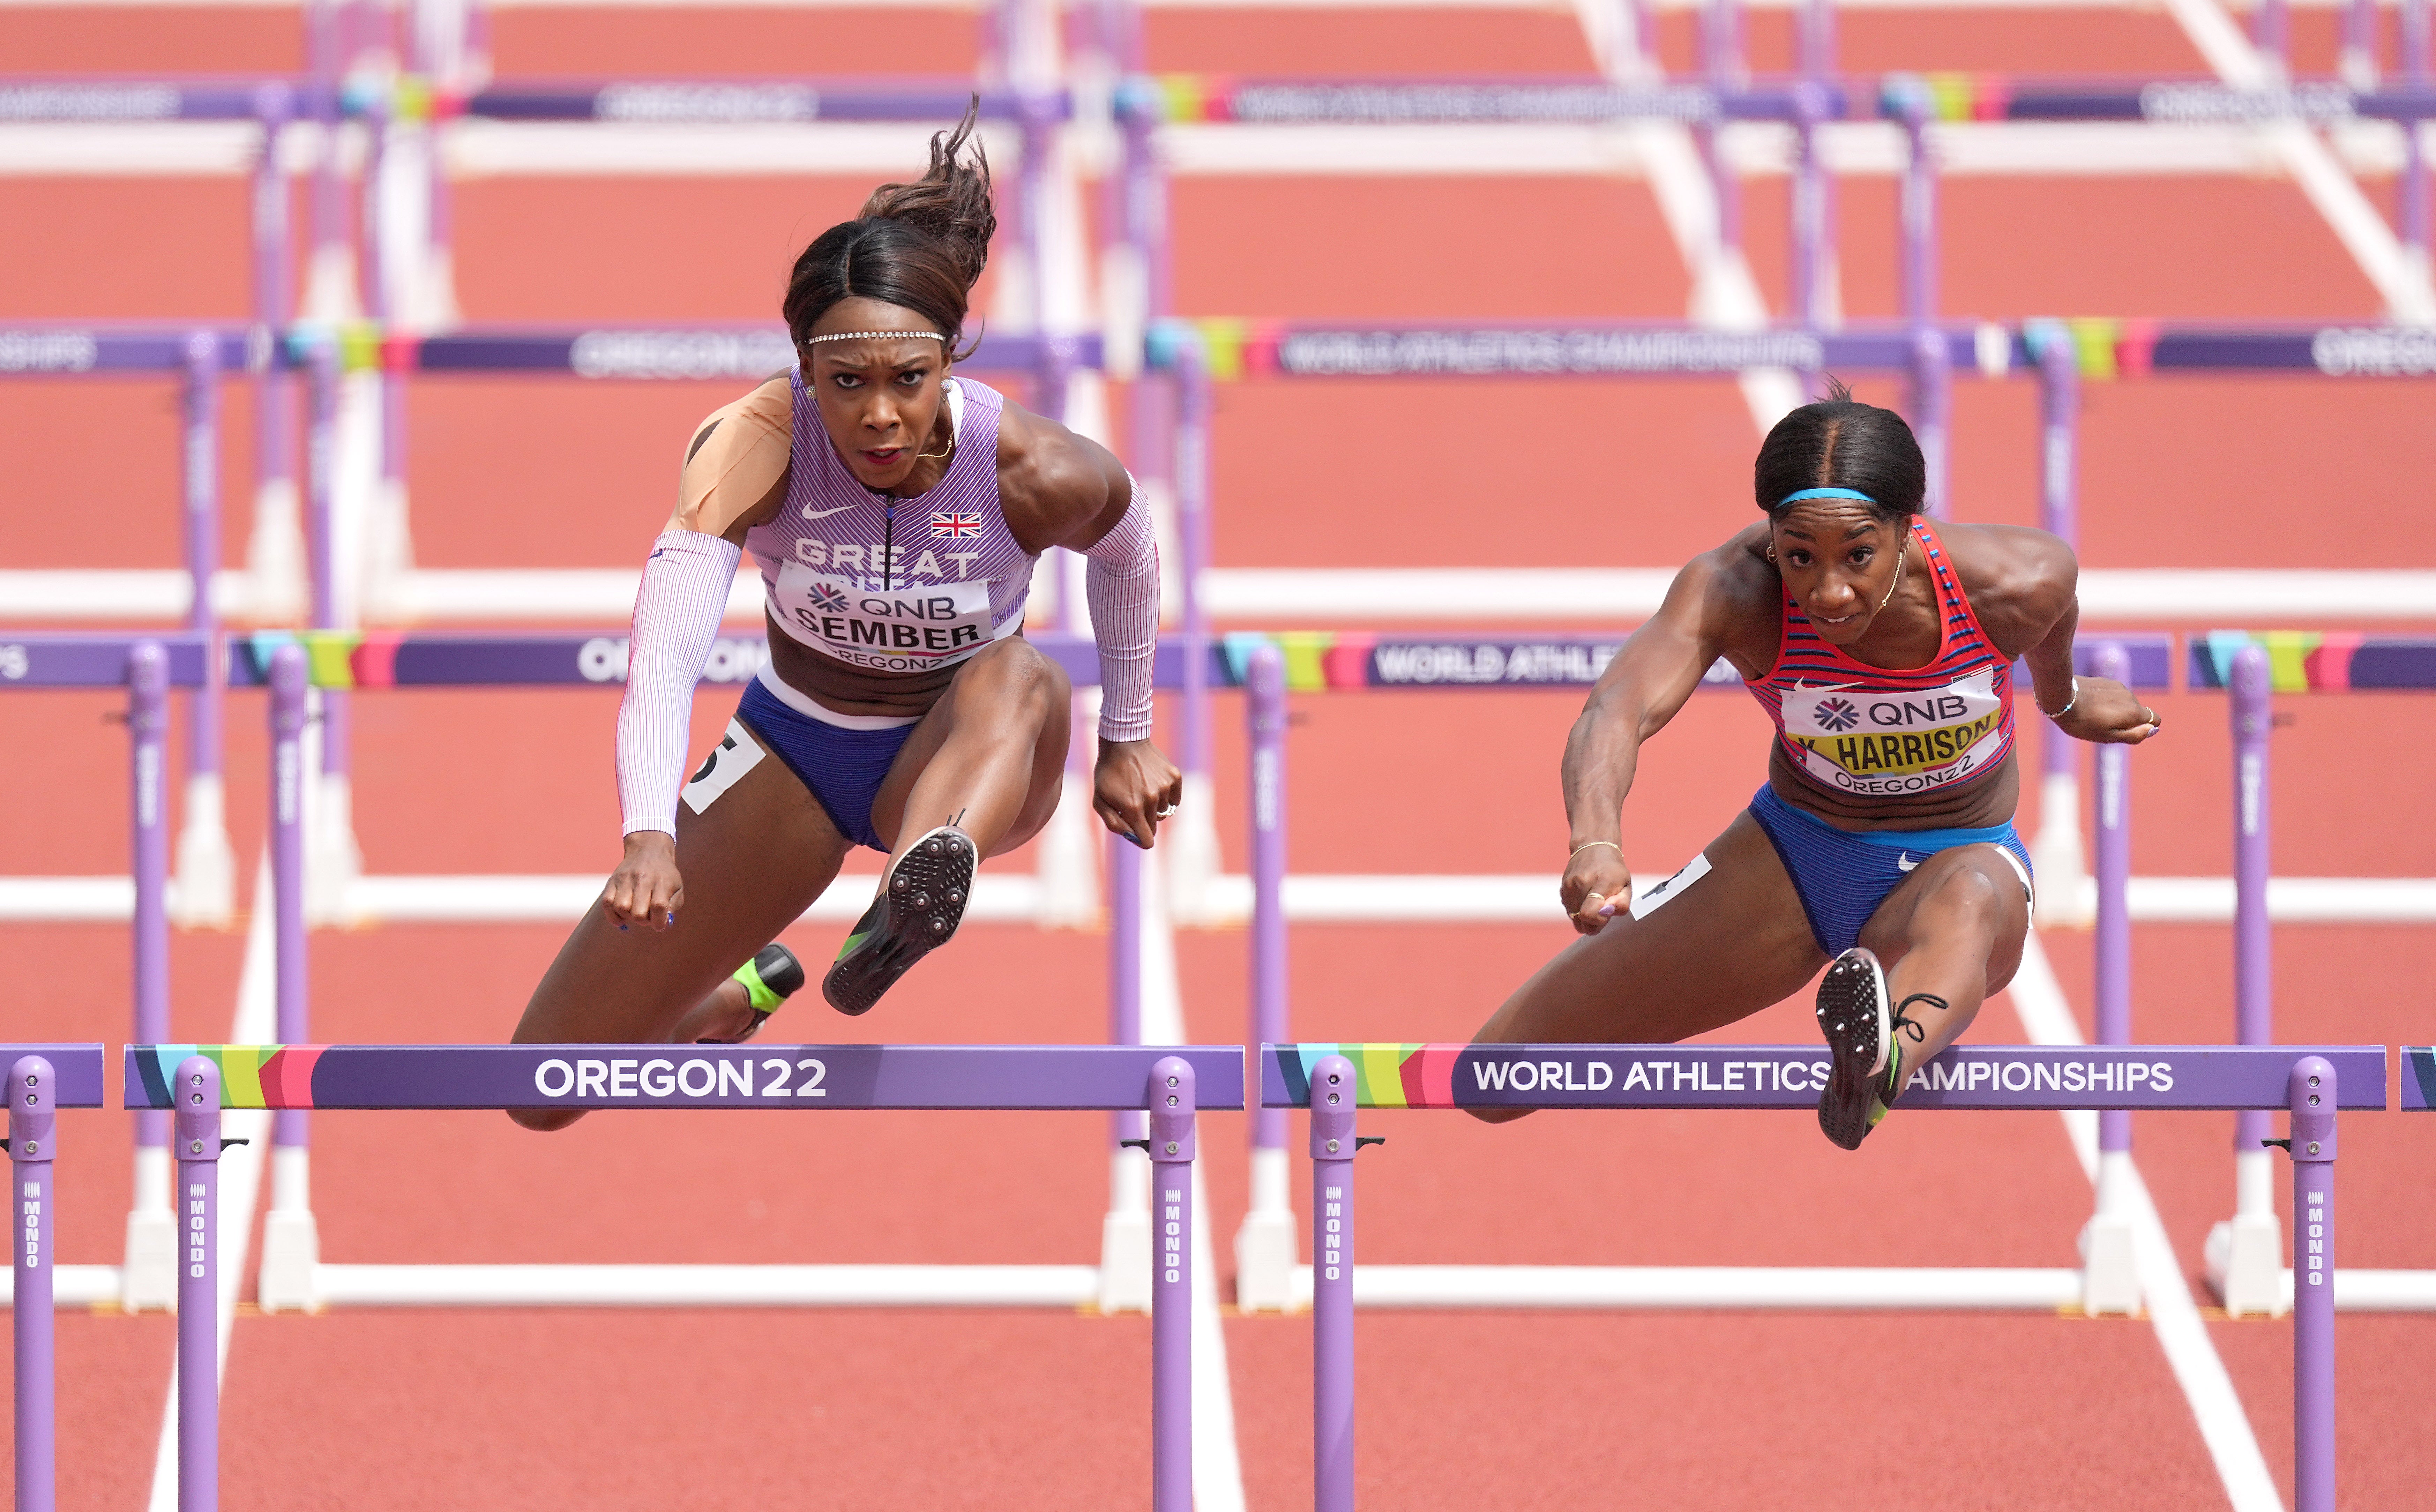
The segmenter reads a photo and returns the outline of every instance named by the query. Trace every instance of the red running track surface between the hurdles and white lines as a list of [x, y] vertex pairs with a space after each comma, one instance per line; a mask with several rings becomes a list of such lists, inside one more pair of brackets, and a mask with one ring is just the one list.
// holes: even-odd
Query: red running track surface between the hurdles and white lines
[[[2304, 63], [2331, 51], [2304, 12]], [[972, 19], [906, 12], [512, 10], [502, 75], [965, 68]], [[285, 12], [0, 12], [0, 68], [285, 68]], [[1564, 73], [1574, 22], [1530, 12], [1157, 12], [1150, 61], [1211, 73]], [[1691, 27], [1666, 17], [1669, 63]], [[2156, 12], [1854, 12], [1856, 71], [2197, 73]], [[1761, 68], [1783, 15], [1754, 17]], [[2314, 49], [2314, 51], [2312, 51]], [[473, 319], [750, 319], [784, 261], [862, 183], [804, 178], [475, 180], [458, 192]], [[300, 200], [302, 207], [302, 200]], [[1951, 180], [1944, 307], [1985, 317], [2368, 319], [2375, 299], [2285, 183]], [[0, 180], [0, 319], [231, 317], [246, 304], [239, 180]], [[1184, 180], [1177, 292], [1259, 317], [1678, 317], [1683, 265], [1637, 180]], [[27, 234], [41, 226], [41, 234]], [[2239, 236], [2227, 236], [2239, 226]], [[1844, 302], [1893, 309], [1893, 185], [1846, 180]], [[1286, 231], [1286, 234], [1279, 234]], [[1747, 195], [1761, 287], [1781, 287], [1781, 183]], [[984, 292], [987, 299], [987, 292]], [[1868, 385], [1868, 392], [1883, 392]], [[426, 565], [626, 565], [665, 509], [716, 385], [424, 380], [412, 489]], [[1116, 407], [1123, 414], [1123, 404]], [[229, 394], [229, 497], [251, 475]], [[2090, 565], [2436, 565], [2426, 387], [2151, 380], [2088, 390]], [[1959, 394], [1966, 519], [2032, 521], [2027, 385]], [[541, 443], [536, 446], [536, 438]], [[1751, 424], [1727, 382], [1237, 385], [1220, 390], [1218, 560], [1228, 565], [1659, 565], [1749, 519]], [[10, 565], [171, 565], [168, 385], [12, 385], [0, 404]], [[1513, 465], [1508, 458], [1535, 458]], [[1354, 465], [1347, 465], [1357, 458]], [[1588, 489], [1586, 489], [1588, 482]], [[229, 553], [246, 541], [231, 509]], [[0, 872], [112, 872], [127, 850], [107, 696], [7, 701], [0, 774], [24, 794]], [[2224, 874], [2224, 704], [2163, 696], [2136, 767], [2136, 869]], [[2280, 874], [2436, 874], [2429, 704], [2292, 699], [2278, 735]], [[261, 842], [261, 701], [229, 701], [231, 825]], [[1554, 765], [1571, 701], [1367, 694], [1296, 706], [1294, 867], [1532, 872], [1564, 840]], [[704, 699], [697, 735], [723, 721]], [[604, 694], [380, 694], [356, 701], [358, 833], [373, 872], [580, 872], [614, 857]], [[1242, 857], [1242, 745], [1218, 704], [1220, 833]], [[1761, 723], [1698, 699], [1652, 745], [1632, 857], [1669, 869], [1759, 782]], [[543, 799], [546, 794], [546, 799]], [[541, 799], [541, 801], [536, 801]], [[1462, 823], [1442, 816], [1459, 813]], [[2024, 828], [2036, 813], [2024, 813]], [[1016, 862], [1018, 867], [1023, 859]], [[1296, 1032], [1462, 1037], [1561, 928], [1303, 928]], [[492, 1040], [558, 945], [548, 928], [390, 928], [314, 940], [324, 1040]], [[799, 930], [821, 954], [826, 930]], [[2088, 942], [2049, 952], [2085, 1013]], [[178, 1035], [227, 1035], [241, 940], [175, 945]], [[2229, 933], [2141, 928], [2136, 1032], [2231, 1027]], [[1242, 1037], [1242, 935], [1179, 940], [1191, 1032]], [[2429, 930], [2285, 928], [2285, 1040], [2426, 1040]], [[124, 1035], [124, 933], [0, 930], [15, 1037]], [[1104, 940], [974, 928], [875, 1020], [831, 1040], [1091, 1040]], [[1800, 1040], [1800, 1006], [1739, 1025]], [[2010, 1003], [1976, 1035], [2017, 1040]], [[1218, 1251], [1245, 1203], [1242, 1120], [1213, 1115]], [[1418, 1113], [1364, 1164], [1371, 1261], [2073, 1264], [2090, 1193], [2051, 1115], [1907, 1115], [1864, 1157], [1805, 1115], [1554, 1118], [1505, 1130]], [[71, 1259], [110, 1259], [127, 1122], [78, 1115]], [[2141, 1118], [2139, 1154], [2180, 1256], [2231, 1205], [2229, 1120]], [[1089, 1261], [1104, 1125], [1072, 1115], [592, 1118], [533, 1139], [492, 1115], [322, 1115], [317, 1208], [334, 1261]], [[2436, 1266], [2421, 1200], [2436, 1125], [2353, 1118], [2343, 1264]], [[1225, 1264], [1225, 1261], [1220, 1261]], [[2214, 1325], [2280, 1475], [2290, 1329]], [[1364, 1315], [1369, 1507], [1805, 1505], [2207, 1507], [2222, 1490], [2141, 1322], [1842, 1315]], [[2341, 1325], [2346, 1507], [2414, 1507], [2436, 1454], [2429, 1320]], [[1308, 1497], [1308, 1327], [1233, 1320], [1255, 1507]], [[231, 1507], [1084, 1507], [1147, 1475], [1142, 1320], [938, 1312], [358, 1312], [244, 1317], [227, 1378]], [[63, 1505], [132, 1510], [168, 1388], [158, 1317], [61, 1320]], [[1876, 1405], [1868, 1405], [1876, 1402]], [[1856, 1422], [1864, 1427], [1856, 1432]], [[2417, 1493], [2412, 1488], [2419, 1488]]]

